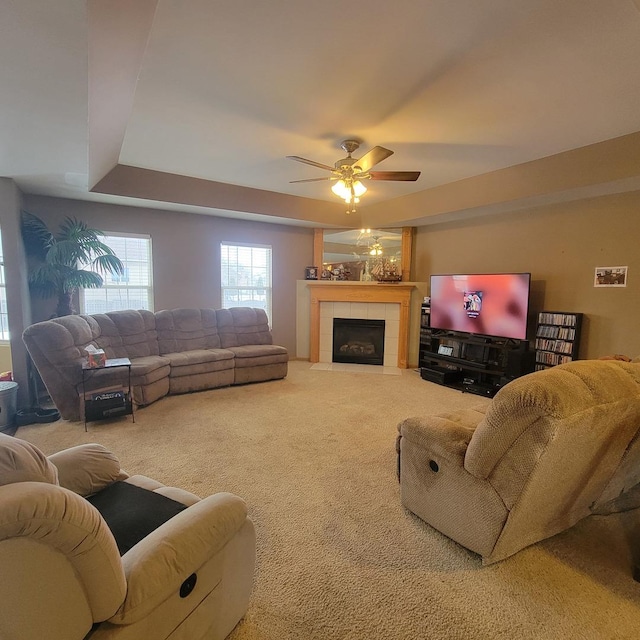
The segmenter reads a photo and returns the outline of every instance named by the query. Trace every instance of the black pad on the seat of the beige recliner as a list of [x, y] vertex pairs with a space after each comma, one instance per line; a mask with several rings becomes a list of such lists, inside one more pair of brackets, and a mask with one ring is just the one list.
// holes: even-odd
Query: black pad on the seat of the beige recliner
[[100, 512], [124, 555], [186, 505], [129, 482], [114, 482], [87, 500]]

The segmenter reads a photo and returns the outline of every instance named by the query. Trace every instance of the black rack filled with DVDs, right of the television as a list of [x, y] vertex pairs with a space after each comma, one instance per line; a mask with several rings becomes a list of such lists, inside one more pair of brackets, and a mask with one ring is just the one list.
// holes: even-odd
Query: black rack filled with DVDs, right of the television
[[578, 359], [582, 314], [541, 311], [536, 329], [536, 371]]

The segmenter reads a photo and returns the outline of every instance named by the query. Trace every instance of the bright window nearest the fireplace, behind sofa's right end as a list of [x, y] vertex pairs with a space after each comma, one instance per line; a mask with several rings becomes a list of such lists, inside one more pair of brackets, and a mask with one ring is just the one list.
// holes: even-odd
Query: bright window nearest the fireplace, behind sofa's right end
[[264, 309], [271, 324], [271, 247], [220, 245], [222, 308]]

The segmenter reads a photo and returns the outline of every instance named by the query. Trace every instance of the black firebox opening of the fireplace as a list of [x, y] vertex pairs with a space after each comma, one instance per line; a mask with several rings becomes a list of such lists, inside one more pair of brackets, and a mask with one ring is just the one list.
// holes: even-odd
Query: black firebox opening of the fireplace
[[333, 362], [384, 363], [384, 320], [333, 319]]

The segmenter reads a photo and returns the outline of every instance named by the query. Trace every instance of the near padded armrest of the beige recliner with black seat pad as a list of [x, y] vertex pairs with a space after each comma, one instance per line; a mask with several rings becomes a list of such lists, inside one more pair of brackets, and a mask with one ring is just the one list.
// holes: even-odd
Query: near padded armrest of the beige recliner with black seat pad
[[109, 618], [131, 624], [149, 615], [241, 529], [247, 506], [231, 493], [217, 493], [168, 520], [122, 556], [127, 596]]

